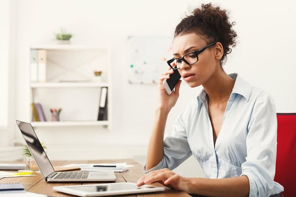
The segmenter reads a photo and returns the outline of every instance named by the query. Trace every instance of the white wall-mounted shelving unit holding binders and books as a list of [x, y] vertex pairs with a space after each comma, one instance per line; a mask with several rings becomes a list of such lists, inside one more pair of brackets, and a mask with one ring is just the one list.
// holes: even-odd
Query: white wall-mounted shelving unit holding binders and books
[[[32, 126], [110, 128], [110, 48], [72, 44], [34, 45], [30, 47], [30, 53], [31, 50], [41, 49], [46, 51], [46, 82], [31, 81], [30, 90], [31, 101], [42, 105], [46, 122], [31, 122]], [[102, 71], [102, 82], [94, 80], [95, 70]], [[108, 87], [108, 118], [98, 121], [102, 87]], [[51, 108], [62, 108], [59, 122], [51, 121]]]

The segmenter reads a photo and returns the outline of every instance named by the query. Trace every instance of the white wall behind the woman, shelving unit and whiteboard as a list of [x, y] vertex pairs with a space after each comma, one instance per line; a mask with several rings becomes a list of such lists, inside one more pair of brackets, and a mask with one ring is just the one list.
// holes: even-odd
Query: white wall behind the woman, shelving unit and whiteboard
[[[123, 144], [141, 146], [148, 143], [156, 85], [128, 83], [126, 39], [129, 35], [173, 35], [188, 8], [199, 0], [16, 0], [16, 115], [13, 119], [28, 120], [30, 111], [29, 46], [54, 39], [61, 27], [74, 33], [73, 44], [111, 44], [112, 56], [112, 121], [111, 131], [93, 128], [83, 131], [39, 131], [42, 141], [54, 149], [54, 136], [82, 138], [92, 144]], [[219, 2], [215, 0], [213, 2]], [[227, 72], [238, 72], [247, 81], [268, 91], [278, 112], [296, 111], [294, 44], [296, 43], [296, 2], [291, 0], [223, 0], [228, 9], [238, 44], [224, 66]], [[166, 69], [164, 65], [163, 69]], [[1, 87], [1, 86], [0, 86]], [[182, 86], [181, 96], [170, 114], [167, 131], [186, 103], [200, 88]], [[84, 130], [80, 128], [79, 130]], [[16, 137], [22, 140], [19, 131]], [[70, 144], [70, 142], [69, 142]], [[75, 147], [68, 146], [68, 148]], [[69, 149], [71, 149], [69, 148]], [[58, 150], [56, 149], [56, 152]], [[145, 152], [143, 153], [145, 154]]]

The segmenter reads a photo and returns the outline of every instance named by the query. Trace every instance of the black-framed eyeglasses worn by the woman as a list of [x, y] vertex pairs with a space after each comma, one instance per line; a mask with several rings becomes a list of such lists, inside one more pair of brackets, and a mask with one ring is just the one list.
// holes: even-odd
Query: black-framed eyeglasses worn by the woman
[[[197, 51], [193, 51], [193, 52], [190, 52], [190, 53], [187, 53], [185, 54], [182, 58], [172, 58], [170, 60], [167, 61], [168, 65], [174, 69], [174, 70], [177, 70], [180, 68], [181, 64], [182, 64], [182, 61], [184, 61], [187, 65], [193, 65], [195, 63], [197, 63], [198, 61], [198, 55], [203, 52], [204, 50], [206, 50], [206, 48], [212, 46], [216, 44], [216, 42], [213, 42], [211, 44], [208, 44], [207, 46], [197, 50]], [[175, 67], [173, 67], [171, 64], [175, 62]]]

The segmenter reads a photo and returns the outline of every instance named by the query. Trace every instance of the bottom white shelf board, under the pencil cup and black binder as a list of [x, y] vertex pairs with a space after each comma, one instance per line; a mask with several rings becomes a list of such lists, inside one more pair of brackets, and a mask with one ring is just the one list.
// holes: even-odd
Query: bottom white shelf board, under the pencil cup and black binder
[[31, 122], [33, 127], [66, 127], [66, 126], [108, 126], [109, 121], [60, 121]]

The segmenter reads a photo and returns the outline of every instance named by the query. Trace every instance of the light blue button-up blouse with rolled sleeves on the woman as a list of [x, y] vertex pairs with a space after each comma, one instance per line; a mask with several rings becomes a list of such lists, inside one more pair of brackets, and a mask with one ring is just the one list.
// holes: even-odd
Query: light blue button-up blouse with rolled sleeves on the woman
[[273, 181], [277, 144], [273, 99], [236, 73], [229, 76], [235, 84], [215, 146], [207, 94], [203, 90], [165, 137], [161, 162], [148, 171], [144, 165], [144, 172], [174, 169], [193, 154], [207, 178], [248, 176], [249, 197], [269, 197], [283, 191], [283, 186]]

